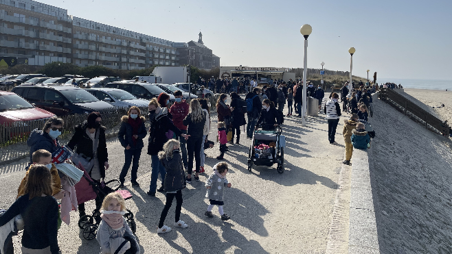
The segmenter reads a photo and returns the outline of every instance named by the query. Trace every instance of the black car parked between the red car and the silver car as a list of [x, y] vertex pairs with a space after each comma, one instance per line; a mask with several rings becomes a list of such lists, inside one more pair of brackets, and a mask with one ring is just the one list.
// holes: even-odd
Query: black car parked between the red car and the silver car
[[105, 101], [99, 101], [86, 90], [74, 86], [16, 86], [11, 92], [57, 116], [89, 114], [115, 108]]

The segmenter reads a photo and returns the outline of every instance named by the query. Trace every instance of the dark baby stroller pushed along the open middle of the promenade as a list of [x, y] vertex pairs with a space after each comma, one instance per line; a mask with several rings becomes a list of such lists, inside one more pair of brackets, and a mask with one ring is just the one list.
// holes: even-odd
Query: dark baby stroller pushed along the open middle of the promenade
[[273, 166], [277, 163], [278, 173], [284, 173], [284, 147], [286, 138], [281, 135], [282, 129], [278, 125], [275, 131], [253, 131], [253, 139], [248, 155], [248, 170], [251, 172], [253, 164], [256, 166]]

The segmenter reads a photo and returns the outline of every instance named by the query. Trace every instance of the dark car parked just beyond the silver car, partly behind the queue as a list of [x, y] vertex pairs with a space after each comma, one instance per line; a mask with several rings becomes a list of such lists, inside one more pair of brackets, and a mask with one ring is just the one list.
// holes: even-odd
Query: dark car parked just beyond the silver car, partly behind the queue
[[[117, 88], [121, 90], [125, 90], [133, 94], [133, 96], [139, 99], [152, 99], [154, 97], [159, 97], [159, 94], [165, 92], [158, 86], [154, 84], [148, 83], [140, 83], [140, 82], [113, 82], [106, 84], [106, 88]], [[165, 92], [166, 93], [166, 92]], [[170, 96], [170, 104], [174, 103], [175, 98], [174, 95], [168, 94]]]

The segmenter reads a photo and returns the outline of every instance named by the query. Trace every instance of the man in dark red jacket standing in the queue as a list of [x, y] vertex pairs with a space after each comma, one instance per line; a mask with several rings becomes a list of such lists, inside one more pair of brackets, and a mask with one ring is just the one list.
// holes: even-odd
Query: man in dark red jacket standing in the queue
[[[176, 91], [174, 92], [174, 98], [176, 99], [176, 103], [172, 104], [170, 107], [170, 113], [172, 114], [172, 123], [178, 129], [182, 131], [183, 134], [187, 134], [187, 126], [183, 125], [182, 121], [185, 119], [185, 116], [188, 115], [189, 105], [185, 100], [182, 100], [182, 92]], [[178, 137], [179, 142], [181, 142], [181, 151], [182, 151], [182, 162], [185, 170], [188, 169], [188, 156], [187, 156], [187, 147], [185, 147], [185, 138], [181, 136]]]

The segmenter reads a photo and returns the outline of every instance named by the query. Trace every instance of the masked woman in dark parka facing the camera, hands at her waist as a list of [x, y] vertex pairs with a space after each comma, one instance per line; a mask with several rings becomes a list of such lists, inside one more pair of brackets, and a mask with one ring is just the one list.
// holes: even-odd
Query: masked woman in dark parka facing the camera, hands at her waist
[[142, 112], [138, 107], [132, 106], [128, 109], [127, 116], [122, 116], [121, 120], [122, 123], [120, 131], [117, 133], [117, 138], [120, 140], [122, 147], [124, 147], [126, 160], [120, 174], [120, 188], [124, 187], [128, 168], [130, 168], [132, 163], [131, 183], [132, 186], [139, 187], [137, 171], [139, 157], [142, 155], [144, 147], [143, 138], [148, 134], [144, 126], [146, 118], [142, 116]]

